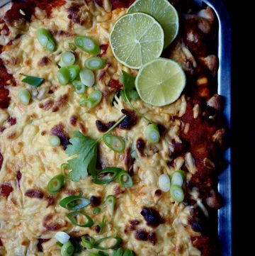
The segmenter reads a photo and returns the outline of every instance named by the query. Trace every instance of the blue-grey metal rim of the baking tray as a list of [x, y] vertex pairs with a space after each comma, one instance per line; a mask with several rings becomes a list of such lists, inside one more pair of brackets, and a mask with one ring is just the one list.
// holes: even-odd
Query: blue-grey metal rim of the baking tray
[[[198, 4], [205, 3], [214, 9], [219, 23], [218, 52], [219, 70], [217, 73], [218, 94], [225, 97], [224, 114], [229, 126], [231, 125], [231, 26], [227, 9], [221, 0], [194, 0]], [[10, 0], [0, 0], [0, 7]], [[227, 168], [220, 174], [218, 190], [225, 204], [217, 213], [218, 239], [221, 246], [221, 256], [232, 256], [232, 149], [225, 152], [229, 162]]]

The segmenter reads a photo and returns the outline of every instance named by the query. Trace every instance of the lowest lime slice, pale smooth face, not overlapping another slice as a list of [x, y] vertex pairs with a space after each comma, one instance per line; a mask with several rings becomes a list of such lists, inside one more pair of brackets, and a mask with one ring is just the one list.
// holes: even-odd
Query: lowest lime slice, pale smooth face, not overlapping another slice
[[154, 106], [176, 101], [186, 85], [183, 69], [173, 60], [158, 58], [140, 69], [135, 87], [140, 98]]

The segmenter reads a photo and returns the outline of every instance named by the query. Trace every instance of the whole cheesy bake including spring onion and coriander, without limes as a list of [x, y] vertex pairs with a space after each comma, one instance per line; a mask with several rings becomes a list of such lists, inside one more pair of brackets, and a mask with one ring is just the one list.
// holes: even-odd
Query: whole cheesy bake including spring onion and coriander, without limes
[[179, 63], [186, 87], [155, 106], [139, 81], [126, 89], [140, 71], [110, 42], [133, 2], [2, 8], [0, 255], [218, 255], [217, 18], [169, 1], [179, 32], [159, 60]]

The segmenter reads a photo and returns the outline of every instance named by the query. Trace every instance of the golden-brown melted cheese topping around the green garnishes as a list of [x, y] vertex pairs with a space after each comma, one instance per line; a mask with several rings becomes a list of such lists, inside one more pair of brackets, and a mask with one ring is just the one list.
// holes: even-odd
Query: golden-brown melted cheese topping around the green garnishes
[[[84, 1], [75, 2], [84, 3]], [[48, 138], [52, 127], [62, 123], [64, 130], [71, 137], [74, 130], [79, 129], [79, 126], [72, 126], [69, 120], [72, 116], [77, 116], [78, 123], [81, 123], [85, 129], [82, 132], [91, 138], [98, 138], [101, 133], [96, 129], [96, 120], [117, 121], [123, 116], [120, 110], [128, 108], [122, 99], [118, 99], [118, 104], [115, 103], [115, 106], [112, 106], [110, 99], [113, 93], [108, 90], [107, 84], [110, 79], [119, 79], [123, 69], [132, 74], [135, 74], [135, 71], [118, 63], [110, 48], [104, 56], [108, 65], [104, 69], [103, 79], [98, 79], [101, 71], [96, 72], [95, 89], [103, 91], [104, 95], [98, 107], [87, 111], [86, 108], [79, 106], [80, 96], [74, 92], [72, 86], [58, 84], [57, 62], [60, 61], [62, 52], [69, 50], [68, 45], [74, 42], [74, 35], [88, 35], [99, 44], [108, 44], [113, 23], [126, 11], [125, 9], [116, 9], [107, 13], [98, 6], [94, 6], [91, 1], [89, 5], [84, 4], [81, 7], [85, 24], [80, 26], [77, 23], [72, 23], [72, 29], [70, 29], [67, 9], [71, 4], [72, 1], [68, 1], [64, 6], [54, 9], [50, 18], [46, 17], [45, 11], [36, 9], [28, 30], [23, 32], [20, 38], [14, 40], [13, 45], [4, 46], [0, 56], [8, 72], [13, 74], [17, 82], [17, 87], [8, 87], [11, 104], [7, 110], [1, 110], [0, 113], [0, 123], [4, 123], [8, 116], [14, 116], [17, 120], [16, 125], [6, 128], [0, 137], [1, 153], [4, 155], [0, 184], [9, 182], [13, 187], [13, 191], [8, 197], [0, 198], [0, 237], [4, 245], [4, 247], [0, 247], [0, 254], [8, 256], [60, 255], [60, 247], [56, 245], [56, 240], [53, 238], [56, 231], [47, 228], [49, 223], [45, 227], [46, 216], [52, 216], [50, 223], [57, 223], [60, 230], [74, 236], [89, 234], [95, 238], [102, 238], [117, 232], [118, 236], [123, 238], [124, 247], [134, 250], [137, 255], [199, 256], [200, 251], [191, 243], [191, 236], [199, 235], [188, 224], [191, 207], [174, 203], [169, 192], [163, 192], [162, 196], [155, 196], [155, 191], [159, 189], [159, 175], [171, 174], [175, 169], [179, 169], [184, 161], [183, 157], [179, 157], [174, 161], [175, 167], [167, 165], [167, 162], [171, 160], [171, 151], [173, 150], [171, 142], [173, 140], [180, 141], [178, 134], [181, 122], [174, 117], [182, 116], [185, 113], [185, 96], [181, 96], [174, 104], [161, 108], [149, 106], [142, 101], [135, 103], [142, 113], [145, 113], [153, 121], [164, 124], [167, 130], [164, 140], [157, 145], [147, 143], [144, 157], [140, 156], [139, 152], [135, 152], [135, 142], [137, 138], [143, 138], [146, 141], [144, 130], [147, 122], [145, 120], [138, 118], [137, 125], [131, 130], [115, 129], [113, 131], [113, 134], [125, 138], [127, 144], [135, 152], [134, 176], [132, 177], [134, 186], [130, 189], [121, 189], [122, 193], [116, 196], [117, 206], [113, 218], [111, 218], [108, 208], [103, 208], [101, 213], [96, 216], [93, 215], [91, 206], [84, 209], [92, 216], [95, 223], [99, 223], [103, 215], [106, 215], [108, 225], [103, 235], [97, 236], [92, 228], [81, 228], [69, 223], [65, 216], [69, 211], [62, 208], [59, 201], [67, 197], [69, 191], [76, 191], [76, 194], [81, 193], [86, 198], [101, 196], [103, 199], [109, 194], [115, 194], [118, 183], [96, 185], [90, 177], [86, 177], [80, 182], [72, 182], [67, 179], [62, 192], [55, 196], [55, 205], [48, 207], [47, 200], [30, 198], [25, 195], [28, 189], [41, 189], [46, 193], [47, 183], [52, 177], [60, 174], [60, 166], [69, 160], [62, 148], [52, 148], [49, 145]], [[41, 27], [51, 31], [67, 32], [63, 35], [61, 33], [55, 35], [57, 42], [55, 52], [47, 52], [38, 43], [36, 30]], [[77, 63], [82, 67], [89, 54], [79, 49], [76, 50], [76, 53]], [[40, 66], [38, 62], [43, 57], [47, 57], [50, 61], [47, 65]], [[23, 78], [20, 75], [21, 72], [35, 77], [43, 77], [45, 82], [38, 89], [28, 87], [21, 82]], [[18, 101], [18, 89], [21, 87], [27, 87], [33, 94], [33, 100], [28, 106], [24, 106]], [[50, 88], [53, 88], [54, 93], [48, 94]], [[63, 106], [60, 106], [58, 111], [52, 112], [52, 108], [40, 107], [49, 100], [56, 103], [64, 95], [67, 96], [67, 99], [64, 99]], [[115, 153], [103, 143], [100, 143], [99, 148], [102, 167], [114, 166], [125, 169], [125, 153]], [[20, 185], [16, 179], [18, 171], [22, 174]], [[148, 227], [140, 214], [143, 206], [157, 208], [165, 223], [157, 228]], [[152, 243], [135, 239], [132, 230], [125, 232], [131, 220], [140, 221], [139, 229], [144, 228], [147, 232], [155, 232], [157, 243], [152, 245]], [[38, 238], [50, 239], [42, 244], [43, 253], [38, 252]], [[81, 255], [89, 255], [89, 252], [85, 250], [81, 252]]]

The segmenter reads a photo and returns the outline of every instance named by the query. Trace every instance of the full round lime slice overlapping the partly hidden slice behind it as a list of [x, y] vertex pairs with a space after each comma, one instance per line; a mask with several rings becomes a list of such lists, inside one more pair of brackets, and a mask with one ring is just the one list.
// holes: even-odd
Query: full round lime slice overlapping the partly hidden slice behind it
[[162, 54], [164, 30], [146, 13], [126, 14], [113, 26], [110, 43], [113, 55], [120, 63], [140, 69]]

